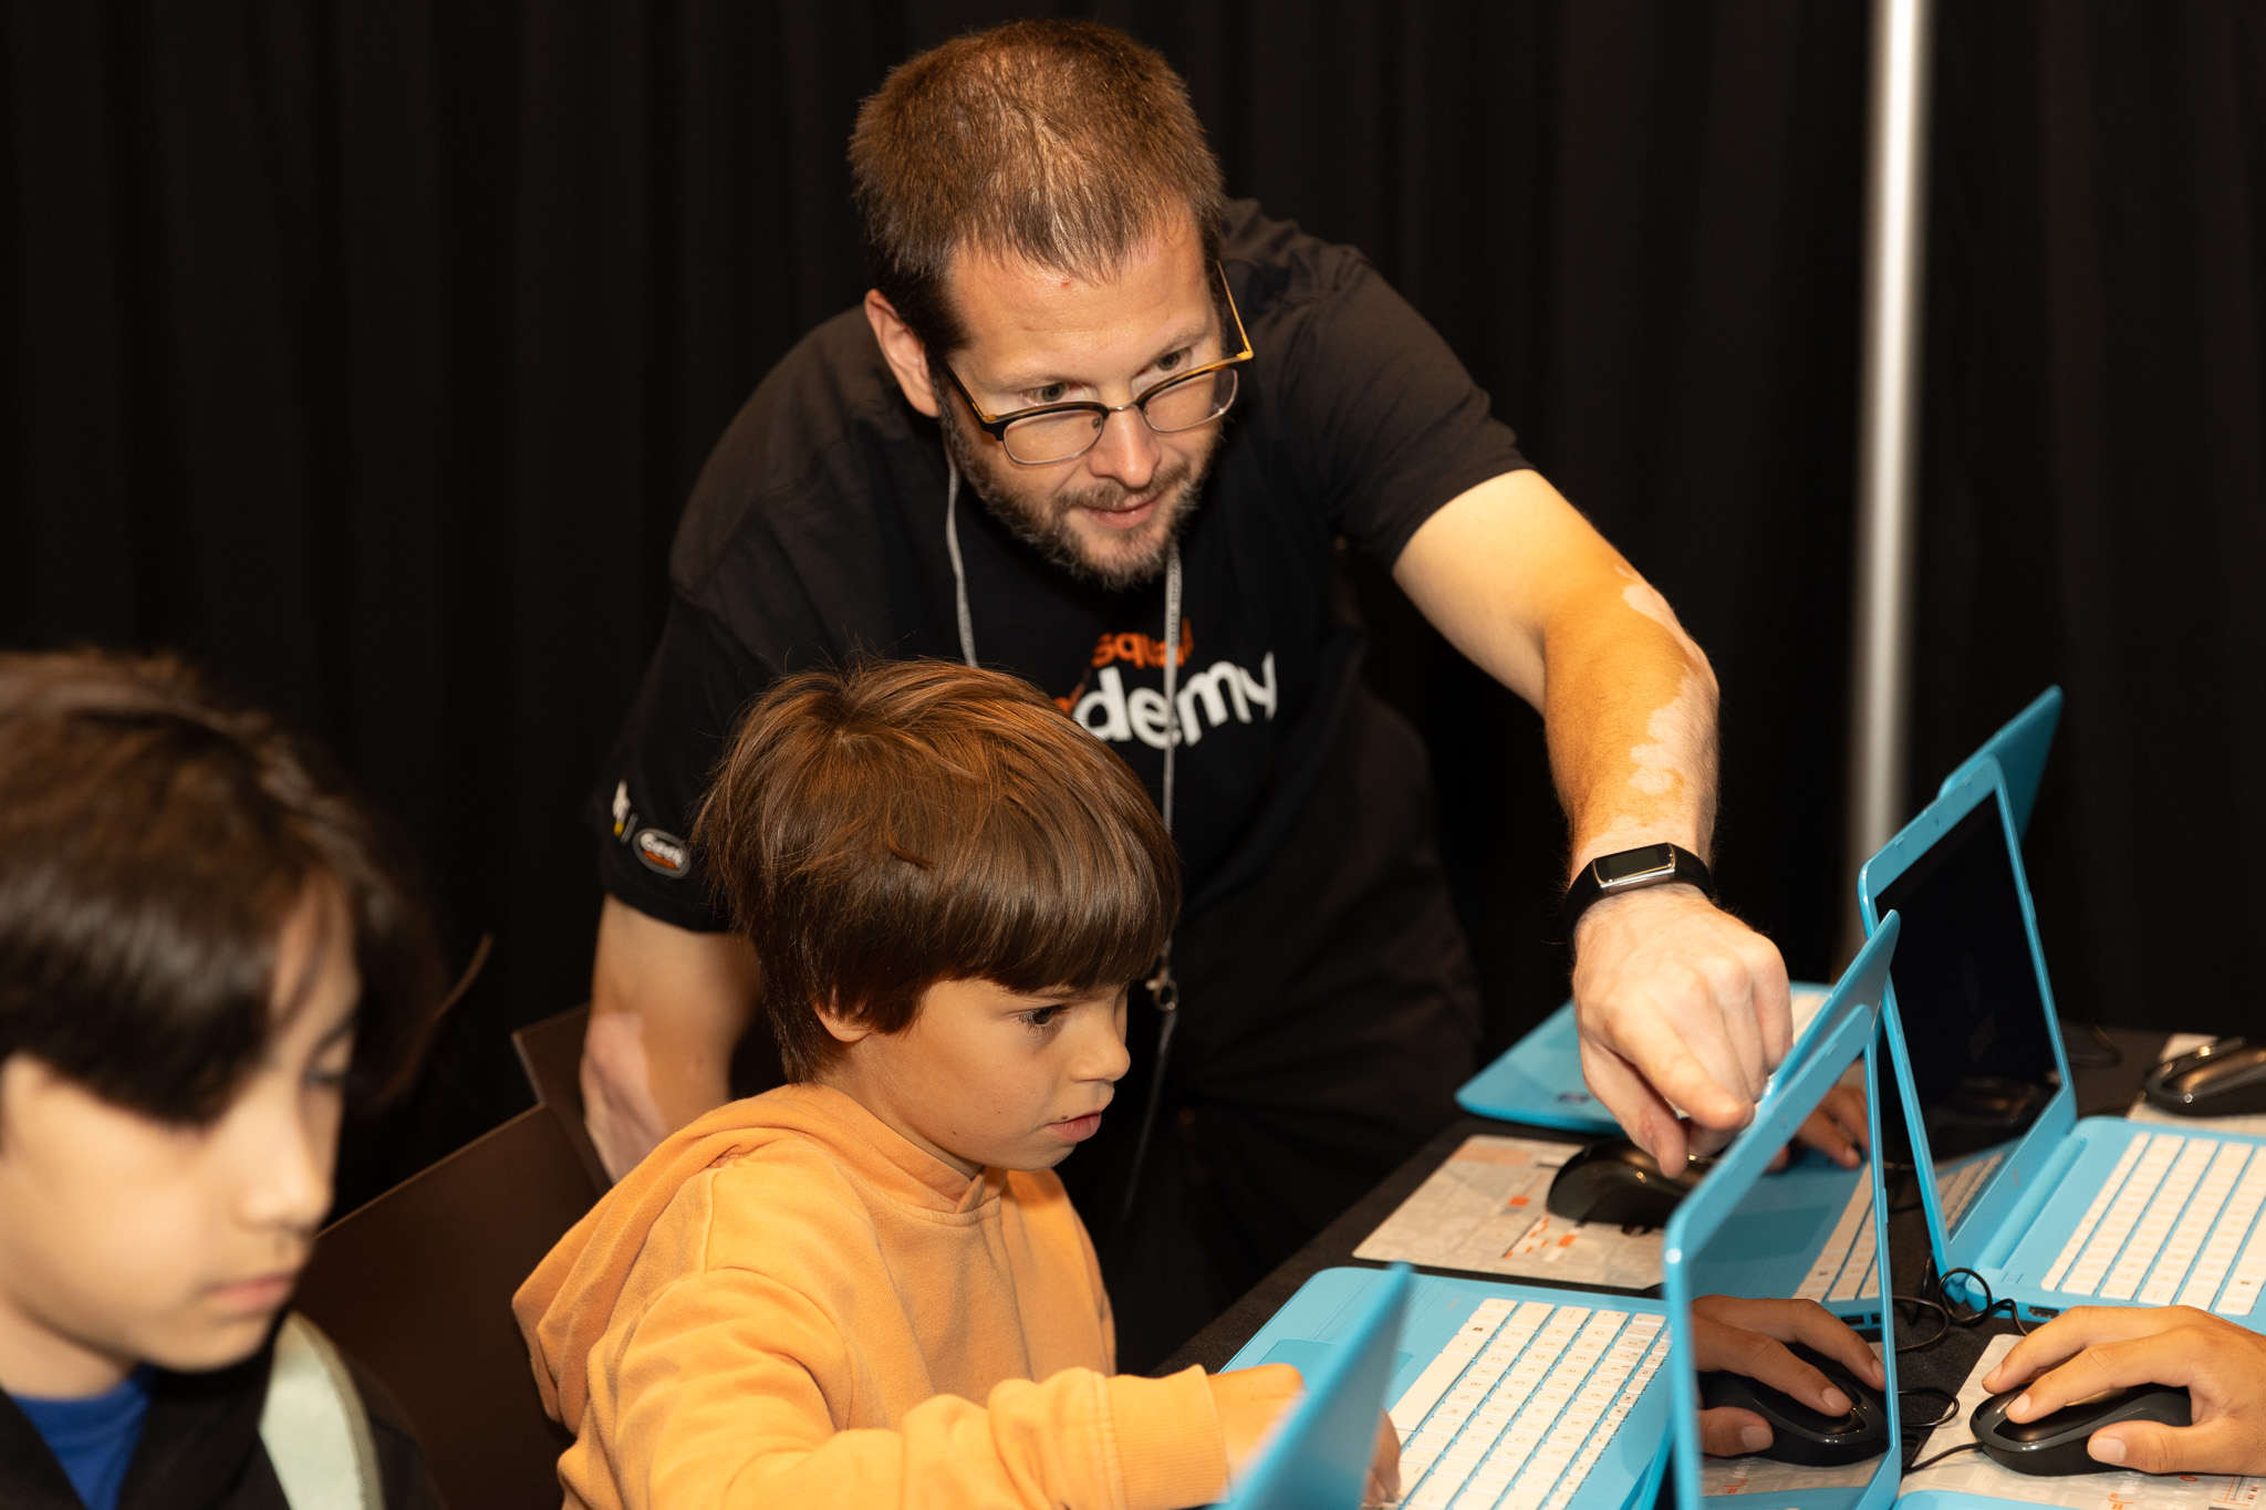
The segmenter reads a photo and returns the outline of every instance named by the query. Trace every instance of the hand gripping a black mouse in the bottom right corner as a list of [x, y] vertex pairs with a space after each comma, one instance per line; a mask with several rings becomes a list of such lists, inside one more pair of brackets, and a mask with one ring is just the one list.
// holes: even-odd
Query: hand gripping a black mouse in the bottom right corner
[[[2035, 1379], [2033, 1379], [2035, 1374]], [[2085, 1451], [2144, 1474], [2266, 1474], [2266, 1338], [2193, 1306], [2076, 1306], [2026, 1336], [1983, 1376], [1992, 1395], [2030, 1385], [2005, 1406], [2035, 1422], [2062, 1406], [2137, 1383], [2187, 1390], [2193, 1426], [2119, 1422]]]

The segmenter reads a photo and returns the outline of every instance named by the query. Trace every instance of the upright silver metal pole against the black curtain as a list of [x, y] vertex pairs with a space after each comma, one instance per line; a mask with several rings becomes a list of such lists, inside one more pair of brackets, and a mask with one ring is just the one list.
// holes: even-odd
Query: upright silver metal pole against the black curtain
[[1856, 869], [1903, 824], [1910, 724], [1913, 539], [1919, 462], [1919, 319], [1928, 211], [1933, 0], [1872, 5], [1865, 165], [1865, 369], [1858, 398], [1856, 623], [1849, 677], [1849, 912]]

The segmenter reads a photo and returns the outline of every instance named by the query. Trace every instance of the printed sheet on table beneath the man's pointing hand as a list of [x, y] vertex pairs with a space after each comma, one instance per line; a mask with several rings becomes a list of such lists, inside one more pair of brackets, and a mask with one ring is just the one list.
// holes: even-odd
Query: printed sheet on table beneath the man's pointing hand
[[1473, 1134], [1353, 1256], [1629, 1290], [1656, 1286], [1656, 1227], [1568, 1222], [1543, 1207], [1550, 1179], [1575, 1152], [1577, 1143]]

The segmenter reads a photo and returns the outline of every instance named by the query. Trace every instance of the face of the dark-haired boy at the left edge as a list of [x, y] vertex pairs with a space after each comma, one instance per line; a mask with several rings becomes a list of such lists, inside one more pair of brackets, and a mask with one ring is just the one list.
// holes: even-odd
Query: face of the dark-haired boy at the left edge
[[39, 1059], [0, 1062], [0, 1385], [84, 1397], [138, 1363], [224, 1367], [258, 1349], [331, 1204], [360, 978], [315, 887], [276, 942], [274, 1037], [208, 1127], [100, 1100]]

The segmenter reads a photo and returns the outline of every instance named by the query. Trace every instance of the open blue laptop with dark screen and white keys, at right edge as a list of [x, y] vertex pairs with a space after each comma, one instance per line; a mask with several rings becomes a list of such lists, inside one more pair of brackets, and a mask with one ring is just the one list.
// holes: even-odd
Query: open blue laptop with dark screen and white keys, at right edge
[[2078, 1121], [1996, 758], [1944, 788], [1858, 876], [1894, 910], [1888, 1041], [1937, 1266], [2028, 1318], [2216, 1311], [2261, 1329], [2266, 1139]]

